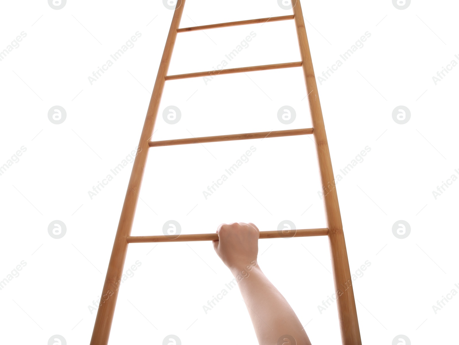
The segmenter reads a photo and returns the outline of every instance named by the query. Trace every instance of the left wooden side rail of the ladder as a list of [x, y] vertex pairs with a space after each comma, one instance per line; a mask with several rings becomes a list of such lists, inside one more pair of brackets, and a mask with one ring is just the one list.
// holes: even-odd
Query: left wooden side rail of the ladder
[[184, 5], [185, 0], [177, 0], [168, 38], [162, 54], [161, 63], [159, 65], [155, 86], [153, 88], [153, 93], [151, 94], [150, 104], [148, 106], [144, 126], [140, 135], [138, 154], [134, 160], [128, 190], [126, 192], [126, 197], [124, 198], [123, 209], [121, 211], [118, 230], [113, 243], [112, 255], [110, 257], [110, 262], [108, 263], [105, 283], [101, 293], [101, 303], [99, 305], [99, 309], [97, 310], [90, 345], [108, 344], [113, 314], [115, 312], [116, 301], [118, 298], [118, 289], [121, 283], [121, 276], [123, 274], [126, 252], [128, 250], [126, 237], [131, 233], [135, 209], [139, 198], [140, 186], [149, 151], [148, 141], [153, 134], [153, 127], [155, 125], [158, 107], [165, 83], [164, 77], [168, 72], [172, 51], [174, 50], [175, 39], [177, 37], [177, 28], [180, 24]]

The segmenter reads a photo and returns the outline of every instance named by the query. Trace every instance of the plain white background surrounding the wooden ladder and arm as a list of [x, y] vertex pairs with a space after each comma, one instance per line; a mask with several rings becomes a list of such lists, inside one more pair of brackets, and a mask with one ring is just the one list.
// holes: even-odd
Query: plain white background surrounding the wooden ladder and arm
[[[335, 175], [366, 146], [363, 162], [337, 185], [358, 320], [364, 344], [457, 343], [459, 292], [457, 91], [459, 67], [437, 85], [432, 77], [459, 62], [455, 1], [303, 1], [316, 76], [365, 32], [371, 37], [328, 80], [318, 81]], [[180, 27], [284, 16], [276, 0], [187, 0]], [[4, 1], [0, 50], [27, 36], [0, 61], [1, 342], [89, 344], [132, 164], [90, 198], [88, 192], [136, 148], [173, 11], [155, 1]], [[179, 33], [169, 74], [212, 70], [251, 32], [256, 37], [227, 68], [300, 60], [293, 21]], [[91, 85], [88, 77], [134, 33], [141, 37]], [[311, 126], [302, 69], [291, 68], [166, 83], [153, 140]], [[59, 125], [48, 110], [67, 112]], [[181, 110], [175, 125], [162, 110]], [[289, 105], [290, 125], [277, 118]], [[404, 125], [392, 111], [406, 106]], [[276, 230], [325, 226], [311, 136], [151, 148], [132, 235], [162, 235], [174, 219], [182, 233], [213, 232], [223, 222]], [[251, 146], [256, 151], [205, 199], [203, 191]], [[342, 175], [342, 174], [341, 174]], [[48, 225], [61, 220], [61, 239]], [[405, 239], [392, 225], [405, 220]], [[154, 248], [154, 249], [152, 249]], [[110, 344], [256, 344], [237, 289], [207, 314], [202, 306], [232, 276], [209, 242], [131, 244], [124, 271], [141, 265], [120, 289]], [[363, 273], [365, 261], [371, 264]], [[297, 312], [313, 344], [338, 344], [336, 303], [325, 237], [261, 240], [259, 264]], [[130, 274], [130, 273], [129, 273]], [[456, 326], [454, 326], [456, 324]]]

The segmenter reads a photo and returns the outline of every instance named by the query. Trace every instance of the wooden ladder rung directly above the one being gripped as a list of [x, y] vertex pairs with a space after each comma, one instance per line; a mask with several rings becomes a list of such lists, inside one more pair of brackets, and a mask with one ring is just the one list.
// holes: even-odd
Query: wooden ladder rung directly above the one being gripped
[[231, 140], [261, 139], [261, 138], [268, 138], [268, 137], [269, 138], [290, 137], [294, 135], [305, 135], [305, 134], [313, 134], [313, 128], [288, 129], [288, 130], [282, 130], [282, 131], [257, 132], [257, 133], [227, 134], [227, 135], [217, 135], [213, 137], [161, 140], [161, 141], [156, 141], [156, 142], [148, 142], [148, 145], [150, 147], [154, 147], [154, 146], [171, 146], [171, 145], [183, 145], [183, 144], [202, 144], [203, 142], [224, 142], [224, 141], [231, 141]]

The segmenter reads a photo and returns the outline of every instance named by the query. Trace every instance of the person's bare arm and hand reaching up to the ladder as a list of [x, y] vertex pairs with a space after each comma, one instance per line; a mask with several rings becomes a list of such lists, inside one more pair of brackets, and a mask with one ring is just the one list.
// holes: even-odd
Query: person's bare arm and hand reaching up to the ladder
[[[213, 248], [238, 281], [260, 345], [311, 345], [297, 315], [257, 262], [259, 230], [253, 223], [218, 226]], [[291, 338], [282, 337], [288, 334]]]

